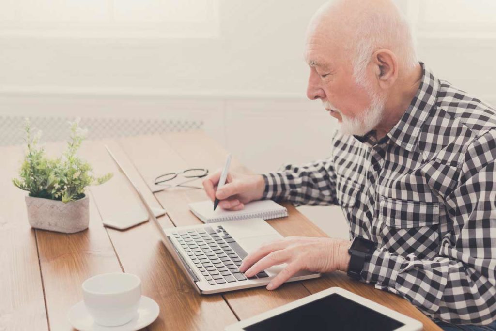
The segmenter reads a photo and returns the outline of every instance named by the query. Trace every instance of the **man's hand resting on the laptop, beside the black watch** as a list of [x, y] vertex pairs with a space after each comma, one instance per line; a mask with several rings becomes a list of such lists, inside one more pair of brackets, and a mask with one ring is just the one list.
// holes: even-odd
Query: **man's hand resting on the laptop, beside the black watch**
[[350, 246], [351, 242], [343, 239], [286, 237], [249, 254], [240, 265], [240, 271], [251, 277], [273, 265], [288, 264], [267, 285], [268, 290], [273, 290], [301, 270], [348, 271]]

